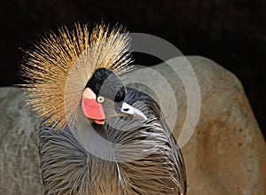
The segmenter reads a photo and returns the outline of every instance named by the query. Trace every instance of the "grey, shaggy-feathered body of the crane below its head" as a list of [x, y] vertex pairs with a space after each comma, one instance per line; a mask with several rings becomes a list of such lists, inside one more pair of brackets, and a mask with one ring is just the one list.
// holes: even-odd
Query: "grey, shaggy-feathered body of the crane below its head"
[[[139, 107], [149, 109], [143, 110], [149, 113], [149, 120], [140, 128], [132, 119], [113, 118], [104, 127], [110, 141], [120, 144], [113, 148], [118, 162], [86, 152], [71, 133], [74, 129], [57, 133], [41, 128], [39, 151], [47, 194], [182, 194], [183, 160], [175, 139], [159, 121], [158, 105], [139, 91], [128, 90], [128, 94], [129, 104], [137, 100], [147, 104], [149, 108]], [[144, 151], [141, 159], [129, 160]], [[119, 161], [122, 157], [126, 161]]]

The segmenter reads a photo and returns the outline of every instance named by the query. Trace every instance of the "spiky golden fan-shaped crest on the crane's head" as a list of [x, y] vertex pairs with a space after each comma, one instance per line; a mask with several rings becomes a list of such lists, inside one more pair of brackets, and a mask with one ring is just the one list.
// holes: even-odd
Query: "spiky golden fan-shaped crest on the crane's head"
[[61, 27], [59, 35], [47, 35], [26, 53], [21, 75], [27, 103], [55, 130], [75, 121], [82, 90], [96, 69], [122, 74], [131, 61], [125, 30], [102, 24], [91, 33], [87, 25], [76, 24], [71, 31]]

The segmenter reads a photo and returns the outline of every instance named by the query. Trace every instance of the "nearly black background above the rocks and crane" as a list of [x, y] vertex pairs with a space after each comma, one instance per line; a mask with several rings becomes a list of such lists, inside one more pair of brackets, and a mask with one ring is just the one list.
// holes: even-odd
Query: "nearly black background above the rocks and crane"
[[[4, 0], [0, 7], [0, 85], [20, 83], [20, 50], [49, 30], [80, 21], [119, 23], [130, 32], [160, 36], [184, 55], [202, 55], [243, 83], [266, 135], [266, 1], [262, 0]], [[136, 55], [137, 63], [156, 58]]]

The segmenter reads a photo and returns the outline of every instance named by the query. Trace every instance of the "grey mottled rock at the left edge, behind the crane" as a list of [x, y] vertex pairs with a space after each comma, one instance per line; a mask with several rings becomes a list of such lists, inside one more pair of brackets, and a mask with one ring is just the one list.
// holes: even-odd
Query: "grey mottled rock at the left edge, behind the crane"
[[0, 88], [0, 194], [43, 194], [38, 166], [38, 125], [21, 90]]

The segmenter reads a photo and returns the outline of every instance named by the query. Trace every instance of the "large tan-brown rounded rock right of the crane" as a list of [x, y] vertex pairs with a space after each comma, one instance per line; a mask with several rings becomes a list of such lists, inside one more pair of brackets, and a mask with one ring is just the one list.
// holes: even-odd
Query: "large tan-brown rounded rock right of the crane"
[[[130, 86], [148, 92], [160, 101], [160, 105], [164, 105], [166, 109], [163, 113], [171, 124], [175, 115], [175, 99], [169, 97], [171, 93], [166, 90], [167, 85], [161, 77], [168, 80], [178, 108], [173, 132], [179, 145], [183, 146], [185, 140], [181, 137], [184, 138], [188, 131], [184, 122], [187, 118], [190, 123], [195, 118], [193, 114], [197, 114], [197, 110], [186, 114], [189, 96], [186, 96], [185, 90], [190, 90], [184, 89], [184, 83], [191, 82], [193, 76], [191, 73], [184, 74], [186, 70], [182, 65], [189, 66], [189, 62], [192, 65], [200, 85], [201, 107], [197, 127], [182, 148], [188, 194], [266, 194], [265, 141], [239, 79], [210, 59], [186, 58], [168, 60], [168, 63], [178, 66], [176, 70], [180, 74], [185, 75], [182, 79], [176, 78], [176, 72], [166, 65], [153, 66], [159, 76], [145, 68], [135, 71], [127, 79], [128, 82], [137, 81]], [[152, 89], [156, 91], [151, 92]], [[160, 94], [168, 98], [160, 99]], [[190, 109], [195, 106], [193, 104], [190, 103]], [[193, 129], [193, 124], [186, 127]], [[181, 133], [184, 135], [180, 136]]]

